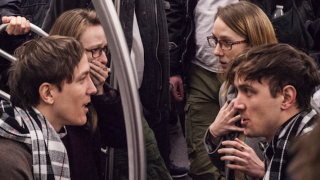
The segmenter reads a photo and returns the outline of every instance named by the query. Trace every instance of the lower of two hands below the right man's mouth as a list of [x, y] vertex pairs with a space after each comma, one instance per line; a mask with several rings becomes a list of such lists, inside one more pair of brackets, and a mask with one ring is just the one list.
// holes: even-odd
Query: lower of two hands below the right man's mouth
[[228, 168], [239, 170], [252, 178], [263, 178], [265, 173], [264, 163], [259, 159], [251, 147], [238, 138], [236, 138], [235, 141], [224, 141], [222, 144], [234, 147], [218, 150], [219, 154], [231, 154], [221, 157], [222, 161], [229, 160], [234, 163], [228, 164]]

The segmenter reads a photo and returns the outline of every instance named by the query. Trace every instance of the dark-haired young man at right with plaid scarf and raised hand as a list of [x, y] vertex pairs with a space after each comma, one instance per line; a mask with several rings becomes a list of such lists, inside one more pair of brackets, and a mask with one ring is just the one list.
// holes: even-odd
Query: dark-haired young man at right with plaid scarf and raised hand
[[[310, 105], [311, 93], [320, 84], [317, 65], [289, 45], [270, 44], [236, 56], [226, 77], [237, 89], [231, 103], [240, 114], [244, 134], [266, 138], [266, 143], [261, 143], [266, 164], [264, 179], [286, 179], [291, 142], [312, 130], [318, 119]], [[238, 139], [222, 145], [234, 148], [220, 149], [220, 154], [233, 155], [221, 160], [230, 160], [234, 164], [228, 164], [229, 168], [245, 172], [245, 158], [252, 149]]]

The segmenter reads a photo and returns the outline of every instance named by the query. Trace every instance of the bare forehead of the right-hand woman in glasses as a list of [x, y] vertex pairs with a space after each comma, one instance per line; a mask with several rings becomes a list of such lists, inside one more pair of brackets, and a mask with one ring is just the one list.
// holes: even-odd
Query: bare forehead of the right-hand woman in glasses
[[214, 24], [213, 24], [213, 35], [218, 39], [231, 39], [231, 40], [238, 40], [242, 38], [236, 32], [234, 32], [229, 26], [226, 25], [222, 21], [220, 17], [218, 17]]

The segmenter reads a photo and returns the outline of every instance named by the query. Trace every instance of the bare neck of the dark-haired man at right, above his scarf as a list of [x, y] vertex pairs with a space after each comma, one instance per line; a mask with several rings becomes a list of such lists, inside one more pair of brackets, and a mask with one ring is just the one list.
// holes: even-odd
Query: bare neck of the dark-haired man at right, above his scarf
[[290, 107], [289, 109], [282, 110], [280, 113], [279, 121], [274, 126], [275, 128], [270, 130], [269, 134], [266, 136], [267, 142], [270, 144], [273, 137], [278, 132], [279, 128], [287, 122], [290, 118], [292, 118], [294, 115], [298, 114], [301, 110], [297, 109], [295, 106]]

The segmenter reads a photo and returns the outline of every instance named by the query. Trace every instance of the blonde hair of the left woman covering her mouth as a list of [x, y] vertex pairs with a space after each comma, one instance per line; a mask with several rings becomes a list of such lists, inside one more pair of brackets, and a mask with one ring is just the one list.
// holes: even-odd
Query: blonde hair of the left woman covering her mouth
[[[94, 10], [73, 9], [62, 13], [53, 24], [49, 35], [61, 35], [74, 37], [79, 41], [80, 36], [89, 26], [101, 25], [99, 17]], [[87, 126], [94, 132], [98, 124], [97, 112], [93, 105], [89, 107]]]

